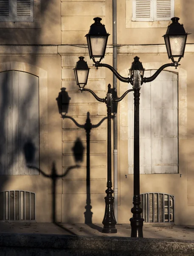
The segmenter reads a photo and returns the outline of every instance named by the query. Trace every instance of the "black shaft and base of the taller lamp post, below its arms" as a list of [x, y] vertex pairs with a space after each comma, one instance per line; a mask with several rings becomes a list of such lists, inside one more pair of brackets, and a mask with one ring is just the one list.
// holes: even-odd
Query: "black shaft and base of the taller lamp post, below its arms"
[[134, 90], [134, 180], [133, 180], [133, 214], [130, 218], [131, 237], [143, 237], [143, 221], [140, 207], [140, 160], [139, 160], [139, 100], [140, 88]]

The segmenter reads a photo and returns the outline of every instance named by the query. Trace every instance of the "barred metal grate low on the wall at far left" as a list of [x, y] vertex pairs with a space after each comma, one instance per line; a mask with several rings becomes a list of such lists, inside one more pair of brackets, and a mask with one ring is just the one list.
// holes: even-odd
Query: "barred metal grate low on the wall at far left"
[[35, 220], [35, 193], [21, 190], [0, 192], [0, 220]]

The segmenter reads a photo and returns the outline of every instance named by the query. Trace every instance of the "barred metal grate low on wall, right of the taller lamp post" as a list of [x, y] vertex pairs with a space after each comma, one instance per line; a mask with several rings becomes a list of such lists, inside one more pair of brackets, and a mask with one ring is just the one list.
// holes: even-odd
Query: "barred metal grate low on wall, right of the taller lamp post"
[[144, 193], [140, 198], [145, 222], [174, 222], [174, 195]]

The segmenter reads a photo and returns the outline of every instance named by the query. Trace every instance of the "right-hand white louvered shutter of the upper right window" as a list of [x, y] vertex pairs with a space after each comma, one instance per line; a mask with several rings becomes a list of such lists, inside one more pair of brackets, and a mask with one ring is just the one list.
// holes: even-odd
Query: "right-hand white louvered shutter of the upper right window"
[[174, 17], [174, 0], [156, 0], [154, 20], [170, 20], [171, 17]]

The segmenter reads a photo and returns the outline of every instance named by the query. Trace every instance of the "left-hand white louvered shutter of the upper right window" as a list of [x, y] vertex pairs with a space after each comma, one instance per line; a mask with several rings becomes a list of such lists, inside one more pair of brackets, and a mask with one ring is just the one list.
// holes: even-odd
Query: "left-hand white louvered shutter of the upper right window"
[[153, 0], [133, 0], [132, 21], [153, 21]]

